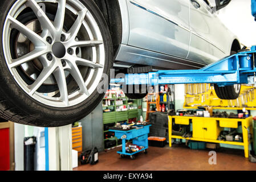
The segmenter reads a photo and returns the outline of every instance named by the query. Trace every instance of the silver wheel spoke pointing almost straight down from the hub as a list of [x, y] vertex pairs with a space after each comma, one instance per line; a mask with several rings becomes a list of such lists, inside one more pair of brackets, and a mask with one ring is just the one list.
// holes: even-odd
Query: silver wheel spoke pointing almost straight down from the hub
[[66, 76], [62, 65], [59, 65], [56, 69], [54, 77], [59, 87], [60, 101], [63, 101], [66, 106], [69, 106]]

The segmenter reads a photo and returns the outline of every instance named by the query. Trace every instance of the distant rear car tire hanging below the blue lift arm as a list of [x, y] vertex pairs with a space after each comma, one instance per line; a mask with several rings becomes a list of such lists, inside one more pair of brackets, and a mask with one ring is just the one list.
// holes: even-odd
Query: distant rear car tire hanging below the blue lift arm
[[[231, 51], [230, 55], [234, 55], [235, 51]], [[239, 97], [241, 91], [241, 84], [218, 86], [214, 84], [214, 90], [218, 98], [222, 100], [235, 100]]]

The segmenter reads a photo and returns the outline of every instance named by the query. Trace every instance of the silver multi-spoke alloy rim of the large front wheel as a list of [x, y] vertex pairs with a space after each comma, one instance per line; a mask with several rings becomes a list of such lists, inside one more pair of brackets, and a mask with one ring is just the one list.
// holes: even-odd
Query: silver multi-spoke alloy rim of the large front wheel
[[[42, 9], [43, 6], [47, 9], [47, 3], [56, 6], [54, 21], [51, 21]], [[18, 16], [28, 8], [39, 20], [42, 27], [40, 35], [17, 20]], [[75, 21], [68, 31], [64, 31], [67, 15], [75, 16]], [[34, 44], [34, 50], [13, 58], [10, 51], [10, 35], [13, 29], [25, 35]], [[86, 32], [88, 39], [78, 39], [82, 30]], [[77, 49], [81, 51], [79, 55], [76, 55]], [[69, 107], [80, 104], [94, 93], [103, 76], [105, 65], [103, 37], [95, 18], [79, 0], [15, 2], [6, 16], [3, 27], [3, 52], [7, 66], [17, 84], [30, 97], [48, 106]], [[84, 57], [90, 57], [91, 60]], [[34, 59], [40, 60], [43, 69], [35, 81], [28, 85], [17, 72], [17, 68]], [[82, 68], [87, 70], [86, 78], [83, 77], [84, 73], [81, 73]], [[78, 86], [75, 90], [68, 87], [65, 72], [70, 73], [74, 78]], [[59, 90], [54, 93], [37, 92], [50, 76], [54, 76]]]

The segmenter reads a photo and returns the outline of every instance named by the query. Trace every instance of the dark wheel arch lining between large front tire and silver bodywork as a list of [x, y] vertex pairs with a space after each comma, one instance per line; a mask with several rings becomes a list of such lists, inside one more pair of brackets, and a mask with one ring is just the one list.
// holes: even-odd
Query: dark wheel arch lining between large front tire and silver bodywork
[[111, 34], [114, 55], [122, 41], [122, 18], [118, 0], [94, 0], [108, 24]]

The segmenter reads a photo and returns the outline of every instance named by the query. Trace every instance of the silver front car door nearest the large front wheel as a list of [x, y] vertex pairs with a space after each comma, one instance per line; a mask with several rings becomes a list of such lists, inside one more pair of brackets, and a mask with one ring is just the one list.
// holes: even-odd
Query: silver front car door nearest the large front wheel
[[188, 0], [127, 0], [128, 45], [186, 58], [189, 52]]

